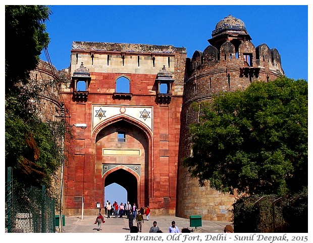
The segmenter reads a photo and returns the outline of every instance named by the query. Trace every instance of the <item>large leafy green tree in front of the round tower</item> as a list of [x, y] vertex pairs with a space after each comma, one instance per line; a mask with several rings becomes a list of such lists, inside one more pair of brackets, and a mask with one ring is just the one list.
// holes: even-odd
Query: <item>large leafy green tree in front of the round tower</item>
[[[200, 108], [184, 160], [199, 184], [223, 192], [284, 195], [307, 186], [308, 85], [280, 77], [225, 93]], [[199, 109], [199, 108], [198, 108]]]

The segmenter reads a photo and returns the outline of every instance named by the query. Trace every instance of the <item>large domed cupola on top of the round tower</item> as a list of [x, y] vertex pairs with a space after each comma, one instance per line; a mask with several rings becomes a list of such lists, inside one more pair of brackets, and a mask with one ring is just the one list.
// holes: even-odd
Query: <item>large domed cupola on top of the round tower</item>
[[251, 40], [244, 22], [228, 15], [217, 23], [215, 30], [212, 31], [212, 38], [207, 41], [219, 49], [226, 41], [230, 41], [237, 46], [243, 40]]

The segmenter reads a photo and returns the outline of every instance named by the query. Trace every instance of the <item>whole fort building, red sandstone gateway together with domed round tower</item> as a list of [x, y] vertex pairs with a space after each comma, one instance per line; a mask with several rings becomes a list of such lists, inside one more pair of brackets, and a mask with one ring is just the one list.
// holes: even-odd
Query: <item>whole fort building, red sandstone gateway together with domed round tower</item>
[[235, 195], [209, 182], [199, 187], [182, 166], [190, 155], [188, 125], [198, 118], [190, 105], [284, 72], [278, 51], [255, 48], [232, 16], [208, 42], [192, 59], [173, 46], [73, 42], [62, 87], [66, 121], [75, 125], [64, 171], [65, 214], [80, 214], [82, 197], [84, 213], [96, 214], [105, 186], [117, 183], [131, 204], [149, 205], [154, 214], [230, 220]]

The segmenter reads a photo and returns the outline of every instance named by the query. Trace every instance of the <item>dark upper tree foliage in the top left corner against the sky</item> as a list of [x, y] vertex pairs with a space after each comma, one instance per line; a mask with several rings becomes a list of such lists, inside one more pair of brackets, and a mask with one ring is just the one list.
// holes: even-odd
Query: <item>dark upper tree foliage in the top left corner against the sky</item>
[[44, 22], [51, 14], [47, 6], [7, 5], [6, 26], [6, 95], [18, 84], [26, 84], [39, 55], [49, 43]]

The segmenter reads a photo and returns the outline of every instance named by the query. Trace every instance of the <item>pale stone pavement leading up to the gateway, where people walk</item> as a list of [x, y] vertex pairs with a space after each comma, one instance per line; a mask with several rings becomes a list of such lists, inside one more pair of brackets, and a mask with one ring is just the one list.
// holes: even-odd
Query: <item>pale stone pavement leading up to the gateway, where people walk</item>
[[[123, 218], [111, 218], [105, 217], [106, 223], [101, 225], [101, 230], [97, 231], [97, 224], [94, 224], [96, 216], [66, 216], [65, 226], [63, 226], [63, 233], [129, 233], [128, 219], [126, 216]], [[196, 233], [223, 233], [224, 227], [230, 222], [220, 222], [220, 221], [208, 221], [202, 220], [202, 226], [190, 227], [190, 220], [179, 218], [175, 216], [153, 216], [150, 215], [149, 221], [146, 220], [144, 216], [144, 223], [142, 224], [142, 233], [148, 233], [150, 227], [153, 225], [153, 221], [158, 222], [160, 230], [164, 233], [168, 233], [168, 229], [171, 226], [172, 221], [176, 222], [176, 226], [181, 231], [183, 228], [189, 228]], [[134, 225], [136, 222], [134, 220]], [[59, 228], [56, 228], [56, 232]]]

